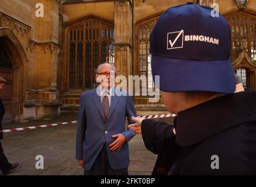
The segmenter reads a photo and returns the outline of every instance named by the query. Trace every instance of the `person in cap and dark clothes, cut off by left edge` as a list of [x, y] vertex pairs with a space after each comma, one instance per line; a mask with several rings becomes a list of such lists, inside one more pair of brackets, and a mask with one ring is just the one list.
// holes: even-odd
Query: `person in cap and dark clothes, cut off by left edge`
[[[0, 76], [0, 89], [3, 89], [4, 85], [5, 85], [6, 80]], [[3, 130], [2, 129], [2, 119], [5, 115], [5, 108], [4, 105], [2, 103], [2, 100], [0, 98], [0, 131]], [[0, 133], [0, 140], [2, 140], [3, 138], [3, 134]], [[8, 175], [10, 172], [14, 171], [14, 169], [16, 169], [18, 167], [19, 163], [15, 163], [15, 164], [11, 164], [9, 163], [8, 159], [6, 158], [5, 154], [4, 154], [4, 150], [0, 141], [0, 169], [2, 171], [3, 175]]]

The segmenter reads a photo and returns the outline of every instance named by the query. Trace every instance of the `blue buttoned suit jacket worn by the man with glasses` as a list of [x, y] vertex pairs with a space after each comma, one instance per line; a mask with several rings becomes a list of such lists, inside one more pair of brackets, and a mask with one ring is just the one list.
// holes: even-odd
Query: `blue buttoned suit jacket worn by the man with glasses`
[[[120, 90], [113, 89], [116, 93]], [[100, 96], [96, 88], [82, 93], [80, 98], [76, 159], [84, 160], [84, 168], [89, 171], [103, 145], [107, 145], [109, 164], [112, 169], [123, 169], [129, 166], [128, 141], [135, 135], [132, 130], [125, 130], [126, 116], [128, 122], [134, 123], [130, 117], [137, 116], [131, 96], [111, 96], [108, 119], [105, 120]], [[117, 151], [110, 151], [109, 144], [116, 140], [112, 135], [122, 133], [126, 143]]]

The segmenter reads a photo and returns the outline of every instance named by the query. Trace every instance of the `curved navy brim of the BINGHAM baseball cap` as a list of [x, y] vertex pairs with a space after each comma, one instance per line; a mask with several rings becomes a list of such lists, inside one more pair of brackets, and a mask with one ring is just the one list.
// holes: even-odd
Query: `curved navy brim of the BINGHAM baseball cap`
[[161, 56], [151, 57], [153, 79], [160, 75], [165, 92], [209, 91], [234, 93], [236, 82], [231, 61], [186, 60]]

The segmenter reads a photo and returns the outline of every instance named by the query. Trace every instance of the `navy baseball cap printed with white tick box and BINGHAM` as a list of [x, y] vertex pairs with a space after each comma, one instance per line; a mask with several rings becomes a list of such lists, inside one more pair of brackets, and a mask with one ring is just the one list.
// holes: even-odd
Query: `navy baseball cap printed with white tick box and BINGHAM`
[[188, 2], [167, 9], [158, 19], [150, 35], [150, 53], [161, 91], [234, 93], [230, 26], [212, 11]]

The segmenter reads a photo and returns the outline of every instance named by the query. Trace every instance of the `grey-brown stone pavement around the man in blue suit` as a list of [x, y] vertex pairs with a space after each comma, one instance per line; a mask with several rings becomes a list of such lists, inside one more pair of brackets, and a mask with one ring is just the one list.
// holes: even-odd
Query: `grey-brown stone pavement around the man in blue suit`
[[[34, 120], [27, 123], [4, 124], [4, 129], [36, 126], [77, 120], [77, 114], [68, 114], [54, 120]], [[171, 122], [171, 119], [164, 119]], [[82, 175], [75, 160], [76, 124], [47, 127], [44, 129], [5, 133], [1, 140], [9, 162], [19, 162], [19, 168], [10, 175]], [[157, 155], [148, 151], [141, 135], [130, 142], [129, 175], [150, 175]], [[44, 169], [36, 169], [36, 155], [43, 155]], [[1, 171], [0, 171], [1, 175]]]

